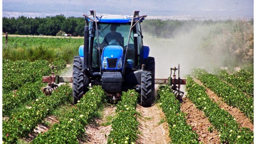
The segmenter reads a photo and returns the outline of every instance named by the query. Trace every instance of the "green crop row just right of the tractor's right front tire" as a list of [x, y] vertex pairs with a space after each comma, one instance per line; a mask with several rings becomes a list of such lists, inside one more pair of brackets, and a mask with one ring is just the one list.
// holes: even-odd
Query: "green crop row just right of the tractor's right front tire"
[[186, 113], [181, 112], [180, 103], [170, 91], [170, 87], [160, 87], [158, 96], [160, 97], [159, 105], [165, 113], [169, 124], [171, 143], [198, 144], [198, 135], [192, 130], [192, 127], [186, 123]]

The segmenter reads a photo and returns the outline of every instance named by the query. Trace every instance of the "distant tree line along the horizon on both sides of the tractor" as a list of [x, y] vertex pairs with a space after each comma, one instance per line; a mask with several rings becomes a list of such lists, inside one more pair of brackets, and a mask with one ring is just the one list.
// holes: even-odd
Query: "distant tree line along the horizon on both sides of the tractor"
[[[85, 20], [83, 17], [65, 17], [64, 15], [48, 17], [3, 17], [2, 31], [10, 34], [21, 35], [49, 35], [56, 36], [60, 32], [72, 34], [73, 36], [83, 36]], [[142, 24], [143, 32], [155, 37], [173, 38], [179, 30], [190, 31], [198, 25], [212, 25], [216, 23], [231, 23], [232, 20], [144, 20]], [[253, 20], [249, 21], [253, 25]]]

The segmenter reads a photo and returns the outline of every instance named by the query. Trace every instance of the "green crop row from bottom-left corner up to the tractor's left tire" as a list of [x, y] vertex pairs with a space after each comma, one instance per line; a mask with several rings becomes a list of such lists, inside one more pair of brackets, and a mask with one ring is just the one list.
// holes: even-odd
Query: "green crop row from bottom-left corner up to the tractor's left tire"
[[42, 96], [24, 110], [12, 113], [2, 122], [2, 139], [5, 143], [16, 143], [18, 138], [25, 137], [38, 123], [41, 123], [54, 108], [68, 101], [72, 89], [62, 85], [51, 96]]

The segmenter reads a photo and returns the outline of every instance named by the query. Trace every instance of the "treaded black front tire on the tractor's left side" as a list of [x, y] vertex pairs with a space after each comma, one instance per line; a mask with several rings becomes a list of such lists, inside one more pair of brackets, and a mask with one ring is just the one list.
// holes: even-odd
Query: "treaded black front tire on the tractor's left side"
[[77, 103], [84, 94], [84, 73], [83, 71], [73, 72], [73, 104]]

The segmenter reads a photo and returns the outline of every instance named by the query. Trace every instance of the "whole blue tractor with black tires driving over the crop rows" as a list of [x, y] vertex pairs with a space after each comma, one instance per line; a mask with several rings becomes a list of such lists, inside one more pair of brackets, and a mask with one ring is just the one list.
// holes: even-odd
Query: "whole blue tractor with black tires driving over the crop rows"
[[84, 16], [84, 45], [73, 61], [73, 103], [88, 87], [101, 85], [109, 94], [135, 89], [141, 105], [150, 107], [155, 100], [155, 59], [142, 41], [140, 23], [146, 15], [96, 15], [90, 10]]

